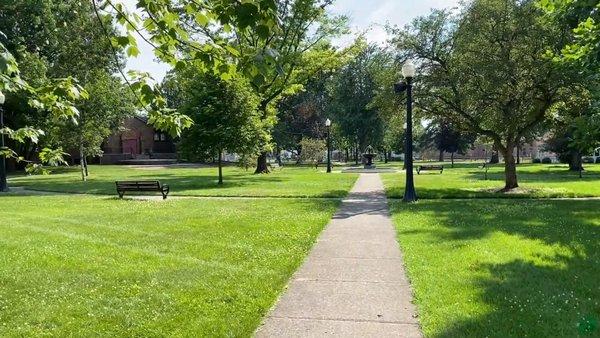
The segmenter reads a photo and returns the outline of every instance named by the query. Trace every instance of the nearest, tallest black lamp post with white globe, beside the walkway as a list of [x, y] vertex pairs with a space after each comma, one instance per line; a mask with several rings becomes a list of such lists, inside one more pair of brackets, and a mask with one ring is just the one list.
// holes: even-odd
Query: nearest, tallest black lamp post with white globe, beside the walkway
[[406, 91], [406, 143], [404, 166], [406, 168], [406, 187], [404, 189], [404, 202], [415, 202], [417, 192], [415, 191], [415, 181], [413, 174], [413, 136], [412, 136], [412, 79], [415, 77], [417, 69], [412, 61], [408, 60], [402, 66], [402, 75], [405, 81], [395, 85], [396, 93]]

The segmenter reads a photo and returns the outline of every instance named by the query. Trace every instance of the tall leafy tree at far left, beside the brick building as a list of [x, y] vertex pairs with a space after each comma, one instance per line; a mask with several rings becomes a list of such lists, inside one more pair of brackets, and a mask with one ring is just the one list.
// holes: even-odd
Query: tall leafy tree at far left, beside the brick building
[[[10, 46], [22, 59], [43, 65], [41, 71], [25, 67], [22, 74], [26, 79], [43, 82], [73, 76], [92, 94], [91, 100], [77, 104], [80, 114], [76, 121], [52, 121], [45, 116], [35, 121], [50, 131], [42, 143], [69, 151], [79, 149], [85, 179], [87, 156], [99, 155], [101, 142], [118, 128], [125, 115], [135, 111], [131, 93], [126, 91], [129, 89], [112, 76], [124, 68], [124, 58], [104, 34], [116, 32], [111, 18], [101, 16], [98, 21], [92, 3], [78, 0], [16, 0], [2, 15], [8, 18], [1, 26], [7, 30]], [[74, 57], [77, 55], [88, 56]], [[36, 114], [31, 109], [20, 109], [20, 113]]]

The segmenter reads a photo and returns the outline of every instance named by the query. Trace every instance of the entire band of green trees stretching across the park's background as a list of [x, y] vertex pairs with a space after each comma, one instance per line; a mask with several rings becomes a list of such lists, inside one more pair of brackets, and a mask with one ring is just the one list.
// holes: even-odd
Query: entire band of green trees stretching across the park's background
[[[405, 98], [393, 85], [408, 59], [419, 68], [417, 144], [452, 154], [492, 144], [505, 190], [518, 187], [514, 151], [527, 140], [550, 139], [572, 170], [598, 146], [598, 1], [475, 0], [388, 27], [386, 45], [359, 36], [343, 47], [349, 20], [332, 3], [4, 1], [0, 91], [13, 142], [2, 154], [59, 163], [78, 149], [85, 179], [86, 159], [143, 112], [190, 161], [234, 152], [267, 173], [267, 154], [301, 155], [327, 118], [346, 161], [368, 145], [387, 160], [403, 150]], [[172, 66], [161, 83], [124, 72], [140, 39]]]

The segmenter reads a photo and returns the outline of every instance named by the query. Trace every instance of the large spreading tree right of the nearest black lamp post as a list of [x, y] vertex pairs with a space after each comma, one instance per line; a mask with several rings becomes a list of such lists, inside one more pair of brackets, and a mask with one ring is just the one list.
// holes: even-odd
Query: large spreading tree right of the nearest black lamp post
[[396, 31], [401, 58], [420, 63], [417, 102], [488, 137], [505, 160], [503, 191], [518, 187], [513, 154], [575, 82], [548, 51], [564, 30], [546, 25], [533, 1], [476, 0], [459, 17], [434, 11]]

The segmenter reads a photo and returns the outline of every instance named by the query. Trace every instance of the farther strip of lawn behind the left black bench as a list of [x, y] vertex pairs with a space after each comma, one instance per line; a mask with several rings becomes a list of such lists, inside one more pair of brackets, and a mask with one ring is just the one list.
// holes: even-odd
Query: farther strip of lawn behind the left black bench
[[35, 190], [115, 195], [116, 180], [158, 179], [171, 187], [172, 195], [182, 196], [343, 197], [357, 177], [356, 174], [325, 174], [305, 167], [285, 167], [268, 175], [225, 167], [225, 182], [219, 186], [216, 168], [90, 166], [87, 182], [81, 181], [77, 168], [67, 168], [46, 176], [15, 176], [9, 184]]

